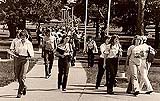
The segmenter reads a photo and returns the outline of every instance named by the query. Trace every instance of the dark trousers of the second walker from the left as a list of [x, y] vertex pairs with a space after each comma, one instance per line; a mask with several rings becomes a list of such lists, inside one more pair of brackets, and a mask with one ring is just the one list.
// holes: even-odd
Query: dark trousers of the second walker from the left
[[51, 73], [53, 66], [54, 54], [53, 51], [44, 50], [44, 64], [45, 64], [45, 75], [48, 76]]

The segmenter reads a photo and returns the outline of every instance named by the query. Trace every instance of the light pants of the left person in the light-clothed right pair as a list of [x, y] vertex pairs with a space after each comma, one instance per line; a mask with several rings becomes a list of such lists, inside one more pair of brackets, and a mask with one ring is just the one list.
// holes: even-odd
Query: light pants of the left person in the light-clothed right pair
[[138, 83], [138, 68], [135, 63], [132, 61], [129, 61], [129, 68], [130, 68], [130, 75], [131, 75], [131, 82], [132, 82], [132, 90], [134, 92], [139, 91], [139, 83]]

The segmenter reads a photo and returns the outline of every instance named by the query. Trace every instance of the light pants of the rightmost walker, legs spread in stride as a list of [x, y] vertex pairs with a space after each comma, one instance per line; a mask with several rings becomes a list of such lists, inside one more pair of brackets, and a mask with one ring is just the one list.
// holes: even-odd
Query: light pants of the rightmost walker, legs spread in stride
[[142, 90], [143, 85], [145, 83], [147, 87], [147, 91], [153, 91], [152, 85], [148, 79], [148, 71], [151, 66], [151, 63], [146, 62], [146, 60], [142, 60], [141, 67], [139, 67], [140, 74], [141, 74], [141, 80], [140, 80], [140, 90]]

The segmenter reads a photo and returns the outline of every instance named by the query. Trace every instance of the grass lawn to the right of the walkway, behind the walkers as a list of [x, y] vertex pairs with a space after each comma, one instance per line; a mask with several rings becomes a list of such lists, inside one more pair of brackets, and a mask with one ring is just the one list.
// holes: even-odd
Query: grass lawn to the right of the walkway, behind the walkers
[[[84, 68], [84, 70], [86, 71], [86, 75], [87, 75], [87, 83], [96, 83], [96, 77], [97, 77], [97, 73], [98, 73], [98, 65], [95, 64], [94, 67], [92, 68], [88, 68], [87, 67], [87, 63], [82, 63], [82, 66]], [[158, 92], [160, 93], [160, 67], [151, 67], [149, 74], [148, 74], [149, 80], [152, 84], [152, 87], [154, 89], [154, 92]], [[105, 84], [105, 73], [103, 76], [103, 79], [101, 81], [101, 84], [104, 85]], [[117, 86], [118, 87], [123, 87], [123, 88], [127, 88], [127, 81], [118, 81]], [[145, 90], [146, 87], [144, 87]]]

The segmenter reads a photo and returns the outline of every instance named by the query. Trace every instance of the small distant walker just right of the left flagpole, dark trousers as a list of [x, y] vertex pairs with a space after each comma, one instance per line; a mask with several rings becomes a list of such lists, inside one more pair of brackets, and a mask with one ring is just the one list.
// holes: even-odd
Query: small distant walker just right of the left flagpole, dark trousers
[[92, 36], [88, 36], [88, 42], [83, 53], [88, 54], [88, 67], [93, 67], [94, 65], [94, 54], [98, 53], [96, 42], [93, 40]]

